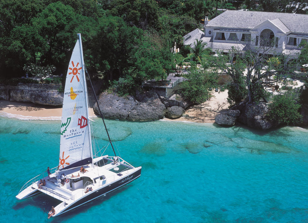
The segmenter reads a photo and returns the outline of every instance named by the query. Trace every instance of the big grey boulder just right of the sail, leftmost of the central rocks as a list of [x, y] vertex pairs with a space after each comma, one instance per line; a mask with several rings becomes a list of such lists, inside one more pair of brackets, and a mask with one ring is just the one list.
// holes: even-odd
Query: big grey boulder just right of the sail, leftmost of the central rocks
[[[98, 103], [103, 116], [106, 118], [126, 120], [129, 112], [138, 102], [133, 96], [119, 97], [116, 94], [101, 93]], [[97, 103], [94, 104], [93, 110], [99, 114]]]

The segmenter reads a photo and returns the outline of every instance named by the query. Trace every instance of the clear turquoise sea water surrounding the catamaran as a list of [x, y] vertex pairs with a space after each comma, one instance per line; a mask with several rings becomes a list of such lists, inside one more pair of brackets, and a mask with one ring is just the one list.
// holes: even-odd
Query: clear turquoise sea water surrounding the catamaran
[[[308, 129], [107, 120], [120, 155], [141, 177], [71, 213], [47, 219], [47, 195], [22, 185], [58, 165], [60, 121], [0, 117], [1, 222], [307, 222]], [[108, 144], [95, 118], [95, 139]], [[112, 155], [111, 149], [105, 153]]]

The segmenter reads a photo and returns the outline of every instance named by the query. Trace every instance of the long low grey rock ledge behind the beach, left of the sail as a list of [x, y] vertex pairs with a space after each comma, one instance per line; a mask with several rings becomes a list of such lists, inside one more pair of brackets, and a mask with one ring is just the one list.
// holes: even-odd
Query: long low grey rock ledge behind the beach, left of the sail
[[10, 101], [32, 102], [44, 105], [62, 105], [63, 93], [60, 84], [0, 85], [0, 98]]

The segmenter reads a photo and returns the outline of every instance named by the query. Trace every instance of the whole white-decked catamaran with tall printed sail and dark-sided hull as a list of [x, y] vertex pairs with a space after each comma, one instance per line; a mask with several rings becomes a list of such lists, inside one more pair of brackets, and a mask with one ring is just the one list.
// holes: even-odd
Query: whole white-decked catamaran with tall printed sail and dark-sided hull
[[[64, 89], [59, 165], [50, 169], [48, 174], [42, 173], [26, 182], [16, 196], [21, 200], [45, 193], [58, 199], [61, 202], [55, 206], [53, 217], [128, 184], [141, 175], [141, 166], [133, 167], [116, 156], [100, 108], [114, 156], [98, 155], [102, 149], [93, 155], [85, 65], [81, 35], [77, 35]], [[95, 99], [99, 106], [96, 95]], [[41, 185], [40, 179], [44, 182]]]

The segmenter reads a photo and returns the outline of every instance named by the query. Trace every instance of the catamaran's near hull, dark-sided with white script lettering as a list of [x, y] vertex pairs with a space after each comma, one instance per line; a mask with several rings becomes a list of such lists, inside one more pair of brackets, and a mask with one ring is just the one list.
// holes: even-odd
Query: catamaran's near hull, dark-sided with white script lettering
[[[121, 178], [112, 184], [103, 186], [101, 188], [98, 188], [91, 193], [88, 193], [86, 196], [80, 198], [79, 200], [75, 201], [74, 203], [67, 205], [64, 209], [62, 209], [60, 212], [56, 213], [53, 217], [58, 216], [60, 214], [66, 213], [74, 208], [77, 208], [89, 201], [94, 200], [95, 198], [98, 198], [100, 196], [103, 196], [104, 194], [107, 194], [115, 189], [120, 188], [121, 186], [124, 186], [125, 184], [128, 184], [132, 182], [133, 180], [137, 179], [141, 175], [141, 167], [137, 168], [137, 170], [128, 176]], [[61, 205], [61, 204], [60, 204]], [[57, 208], [56, 208], [57, 209]]]

